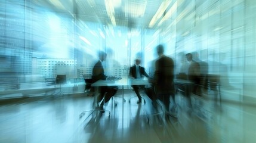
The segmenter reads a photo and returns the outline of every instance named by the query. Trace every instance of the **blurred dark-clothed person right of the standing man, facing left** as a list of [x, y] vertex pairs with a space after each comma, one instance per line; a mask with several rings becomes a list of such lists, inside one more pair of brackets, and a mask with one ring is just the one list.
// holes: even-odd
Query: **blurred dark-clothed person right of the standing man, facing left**
[[186, 54], [186, 57], [187, 61], [189, 61], [188, 77], [190, 82], [192, 82], [192, 93], [201, 95], [200, 64], [193, 60], [193, 55], [191, 53]]

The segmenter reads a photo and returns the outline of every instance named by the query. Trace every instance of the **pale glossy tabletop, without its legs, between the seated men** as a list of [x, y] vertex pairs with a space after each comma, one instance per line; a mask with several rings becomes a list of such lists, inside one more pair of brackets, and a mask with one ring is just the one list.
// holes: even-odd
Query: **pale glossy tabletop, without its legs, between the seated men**
[[98, 80], [91, 86], [150, 85], [147, 79]]

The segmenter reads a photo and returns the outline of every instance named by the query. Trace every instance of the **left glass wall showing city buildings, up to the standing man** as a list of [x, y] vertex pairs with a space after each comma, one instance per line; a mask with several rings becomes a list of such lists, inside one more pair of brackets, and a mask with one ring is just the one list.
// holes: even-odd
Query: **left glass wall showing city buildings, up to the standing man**
[[35, 1], [5, 0], [0, 5], [1, 91], [29, 88], [24, 84], [46, 85], [46, 79], [54, 80], [58, 74], [66, 74], [67, 82], [89, 79], [98, 51], [107, 53], [106, 75], [126, 78], [135, 58], [147, 66], [145, 45], [149, 50], [159, 42], [154, 30], [82, 21], [79, 15], [57, 12]]

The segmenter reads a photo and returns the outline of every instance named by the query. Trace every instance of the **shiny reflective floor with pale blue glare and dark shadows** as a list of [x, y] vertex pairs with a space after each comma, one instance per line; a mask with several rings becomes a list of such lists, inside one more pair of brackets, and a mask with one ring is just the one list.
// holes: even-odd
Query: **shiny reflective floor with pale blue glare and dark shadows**
[[[118, 91], [117, 96], [122, 92]], [[124, 92], [107, 112], [80, 113], [92, 108], [93, 97], [27, 98], [0, 107], [0, 142], [255, 142], [254, 105], [177, 94], [177, 119], [150, 116], [161, 111], [149, 98], [137, 104], [134, 92]], [[190, 102], [191, 101], [191, 102]], [[191, 104], [190, 104], [191, 103]]]

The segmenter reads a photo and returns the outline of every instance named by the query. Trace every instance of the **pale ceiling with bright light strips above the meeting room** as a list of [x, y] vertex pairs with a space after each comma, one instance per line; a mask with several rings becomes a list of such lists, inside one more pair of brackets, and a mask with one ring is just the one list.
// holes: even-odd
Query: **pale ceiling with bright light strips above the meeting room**
[[[136, 28], [147, 28], [162, 3], [157, 0], [33, 0], [33, 2], [53, 10], [55, 13], [69, 13], [76, 15], [76, 18], [82, 21], [93, 21], [106, 25], [113, 24], [113, 20], [110, 18], [110, 15], [113, 14], [117, 26]], [[109, 2], [107, 4], [114, 10], [109, 15], [106, 2]]]

